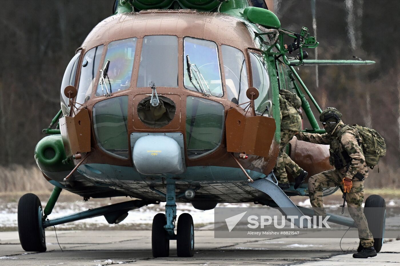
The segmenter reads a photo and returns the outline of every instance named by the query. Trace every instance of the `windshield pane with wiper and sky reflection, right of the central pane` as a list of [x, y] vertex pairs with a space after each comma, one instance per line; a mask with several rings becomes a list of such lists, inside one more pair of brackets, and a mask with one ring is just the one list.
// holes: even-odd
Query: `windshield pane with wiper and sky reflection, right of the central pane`
[[218, 49], [214, 42], [184, 38], [183, 69], [186, 89], [222, 97]]

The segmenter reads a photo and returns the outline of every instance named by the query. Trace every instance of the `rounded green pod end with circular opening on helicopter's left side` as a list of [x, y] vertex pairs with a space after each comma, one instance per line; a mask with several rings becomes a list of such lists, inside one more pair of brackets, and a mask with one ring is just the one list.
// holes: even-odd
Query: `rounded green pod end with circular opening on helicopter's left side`
[[35, 161], [42, 171], [53, 173], [72, 171], [75, 165], [71, 160], [65, 163], [65, 159], [66, 153], [61, 135], [46, 136], [36, 145]]

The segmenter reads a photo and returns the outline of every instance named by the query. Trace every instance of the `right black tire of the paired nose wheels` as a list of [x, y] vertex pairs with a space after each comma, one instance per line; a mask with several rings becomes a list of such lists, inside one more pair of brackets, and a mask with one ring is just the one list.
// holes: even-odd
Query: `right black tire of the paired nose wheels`
[[193, 257], [194, 255], [193, 218], [188, 213], [182, 213], [178, 218], [176, 251], [178, 257]]

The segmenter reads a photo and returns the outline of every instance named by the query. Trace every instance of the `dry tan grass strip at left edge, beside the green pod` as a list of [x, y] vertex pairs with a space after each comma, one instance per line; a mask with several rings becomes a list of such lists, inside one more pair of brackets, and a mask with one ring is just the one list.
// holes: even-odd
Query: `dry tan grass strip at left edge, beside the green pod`
[[53, 186], [44, 179], [37, 166], [0, 166], [0, 192], [51, 191]]

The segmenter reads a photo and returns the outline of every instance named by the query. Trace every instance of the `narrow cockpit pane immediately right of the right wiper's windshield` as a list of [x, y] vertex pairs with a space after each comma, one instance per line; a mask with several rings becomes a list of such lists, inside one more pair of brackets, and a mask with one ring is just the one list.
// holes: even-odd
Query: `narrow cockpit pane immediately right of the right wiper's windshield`
[[237, 48], [222, 45], [222, 59], [226, 84], [226, 97], [236, 104], [249, 101], [246, 96], [248, 89], [247, 68], [244, 54]]

